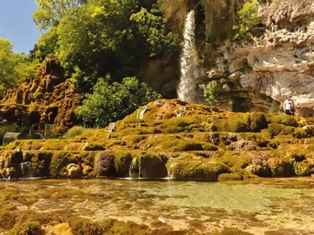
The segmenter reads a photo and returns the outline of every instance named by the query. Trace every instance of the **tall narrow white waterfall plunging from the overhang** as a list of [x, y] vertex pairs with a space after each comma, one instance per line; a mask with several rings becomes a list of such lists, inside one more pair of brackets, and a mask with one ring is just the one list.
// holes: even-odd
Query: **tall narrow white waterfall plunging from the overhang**
[[194, 61], [195, 47], [195, 12], [190, 11], [185, 19], [184, 42], [180, 58], [181, 79], [178, 86], [178, 98], [196, 103], [196, 78], [198, 70]]

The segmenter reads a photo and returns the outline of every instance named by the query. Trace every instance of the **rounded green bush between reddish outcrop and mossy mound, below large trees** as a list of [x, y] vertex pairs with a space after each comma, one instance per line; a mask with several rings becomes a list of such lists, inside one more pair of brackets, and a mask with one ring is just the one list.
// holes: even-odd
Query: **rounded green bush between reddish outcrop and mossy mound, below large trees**
[[161, 98], [135, 77], [127, 77], [122, 83], [111, 85], [105, 79], [99, 79], [93, 90], [93, 94], [87, 94], [83, 105], [76, 110], [84, 126], [88, 127], [105, 127], [131, 114], [139, 106]]

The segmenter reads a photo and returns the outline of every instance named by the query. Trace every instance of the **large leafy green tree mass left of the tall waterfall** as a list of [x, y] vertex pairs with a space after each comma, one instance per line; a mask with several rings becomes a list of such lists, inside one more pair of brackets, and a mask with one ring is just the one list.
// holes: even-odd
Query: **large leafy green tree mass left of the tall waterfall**
[[[90, 0], [58, 26], [58, 57], [68, 76], [89, 92], [99, 77], [137, 76], [152, 57], [178, 58], [156, 0]], [[142, 8], [143, 7], [143, 8]]]

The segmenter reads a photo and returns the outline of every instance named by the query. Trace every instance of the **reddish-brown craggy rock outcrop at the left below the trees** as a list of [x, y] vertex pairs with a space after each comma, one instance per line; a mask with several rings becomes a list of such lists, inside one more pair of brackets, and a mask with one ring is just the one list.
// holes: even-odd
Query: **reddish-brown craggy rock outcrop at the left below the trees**
[[60, 62], [51, 58], [41, 66], [41, 78], [7, 92], [0, 104], [0, 123], [14, 123], [44, 131], [46, 124], [53, 126], [54, 134], [78, 123], [74, 110], [81, 102], [81, 94], [63, 77]]

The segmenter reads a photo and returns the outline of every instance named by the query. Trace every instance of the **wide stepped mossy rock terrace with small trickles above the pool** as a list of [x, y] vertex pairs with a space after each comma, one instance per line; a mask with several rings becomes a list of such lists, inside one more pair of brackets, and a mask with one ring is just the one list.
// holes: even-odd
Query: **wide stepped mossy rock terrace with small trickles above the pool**
[[[217, 181], [310, 176], [312, 125], [314, 118], [157, 100], [112, 124], [113, 132], [107, 127], [70, 140], [11, 142], [0, 154], [0, 177]], [[22, 167], [25, 163], [30, 167]]]

